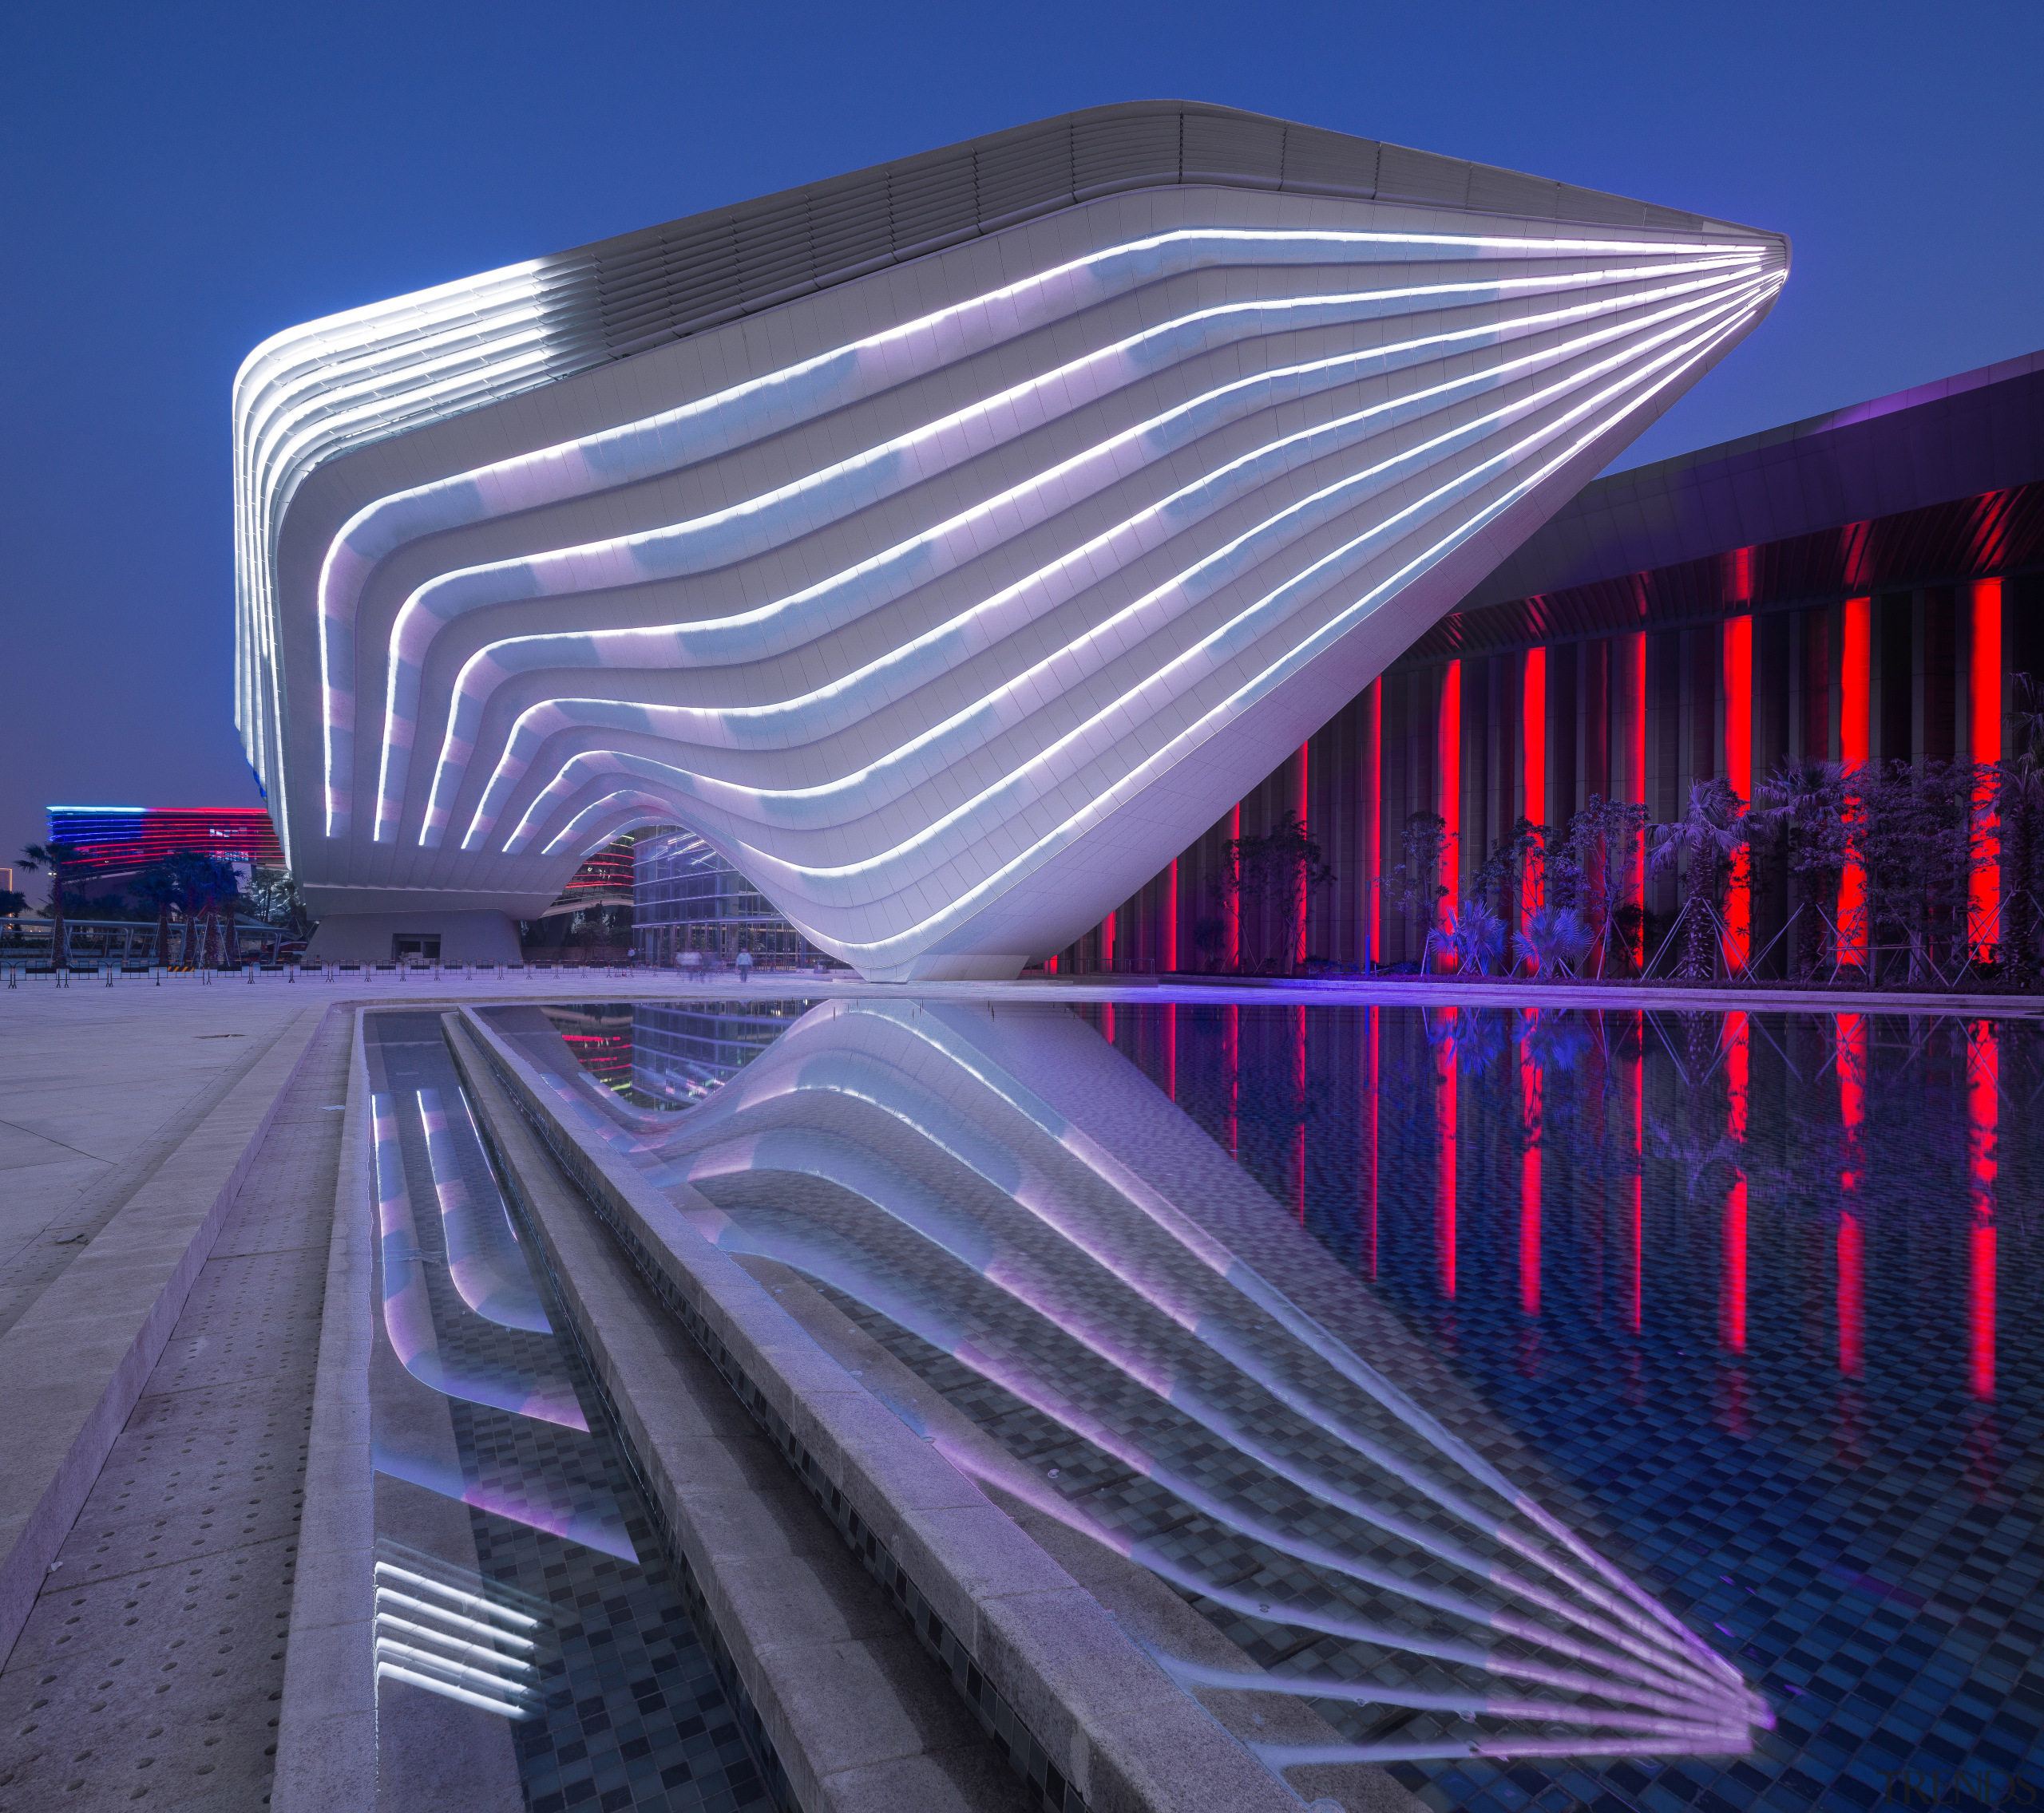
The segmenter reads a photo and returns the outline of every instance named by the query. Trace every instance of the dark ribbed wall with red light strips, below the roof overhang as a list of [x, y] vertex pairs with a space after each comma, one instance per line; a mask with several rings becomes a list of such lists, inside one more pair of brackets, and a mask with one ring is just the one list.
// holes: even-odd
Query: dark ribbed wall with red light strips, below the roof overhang
[[[2005, 733], [2015, 706], [2011, 678], [2044, 670], [2044, 547], [2015, 551], [2030, 557], [2026, 570], [1840, 586], [1836, 596], [1774, 598], [1754, 584], [1741, 596], [1719, 598], [1701, 621], [1666, 627], [1654, 625], [1656, 606], [1678, 582], [1692, 592], [1692, 576], [1639, 574], [1629, 584], [1647, 627], [1470, 649], [1451, 659], [1408, 655], [1124, 902], [1112, 923], [1061, 951], [1057, 968], [1233, 970], [1271, 958], [1284, 970], [1288, 951], [1343, 966], [1359, 966], [1365, 951], [1376, 962], [1414, 960], [1423, 929], [1380, 892], [1400, 862], [1412, 813], [1441, 813], [1457, 825], [1457, 878], [1468, 878], [1521, 815], [1558, 827], [1590, 796], [1607, 796], [1643, 800], [1654, 821], [1676, 819], [1692, 782], [1733, 774], [1725, 727], [1735, 696], [1744, 698], [1750, 737], [1746, 790], [1795, 757], [1970, 760], [1975, 717], [1995, 713]], [[1733, 551], [1723, 566], [1764, 570], [1768, 553]], [[1733, 625], [1741, 623], [1750, 664], [1744, 674], [1733, 647]], [[1991, 680], [1977, 676], [1972, 662], [1983, 627], [2001, 639]], [[1545, 666], [1543, 688], [1529, 690], [1531, 662]], [[1529, 747], [1537, 749], [1533, 796]], [[1459, 784], [1449, 794], [1453, 768]], [[1228, 839], [1261, 835], [1300, 806], [1335, 870], [1335, 882], [1308, 909], [1302, 949], [1296, 927], [1273, 923], [1267, 911], [1251, 909], [1237, 925], [1218, 890]], [[1752, 870], [1748, 890], [1750, 949], [1758, 958], [1799, 900], [1793, 878], [1766, 860]], [[1645, 906], [1662, 919], [1672, 915], [1672, 878], [1647, 878]]]

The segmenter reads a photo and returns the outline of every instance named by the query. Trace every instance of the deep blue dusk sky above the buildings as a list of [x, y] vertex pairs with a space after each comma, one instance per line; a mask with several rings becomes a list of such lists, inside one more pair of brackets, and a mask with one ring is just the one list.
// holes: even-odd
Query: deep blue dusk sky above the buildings
[[2040, 65], [2036, 0], [6, 8], [0, 851], [256, 800], [227, 400], [280, 327], [1183, 96], [1786, 231], [1647, 459], [2044, 345]]

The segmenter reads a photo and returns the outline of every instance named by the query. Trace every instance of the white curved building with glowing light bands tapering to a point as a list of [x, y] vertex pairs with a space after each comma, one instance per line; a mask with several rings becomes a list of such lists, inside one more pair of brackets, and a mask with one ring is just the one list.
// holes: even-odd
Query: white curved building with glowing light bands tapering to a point
[[282, 333], [237, 715], [321, 949], [642, 823], [867, 976], [1192, 843], [1735, 345], [1780, 235], [1179, 102]]

